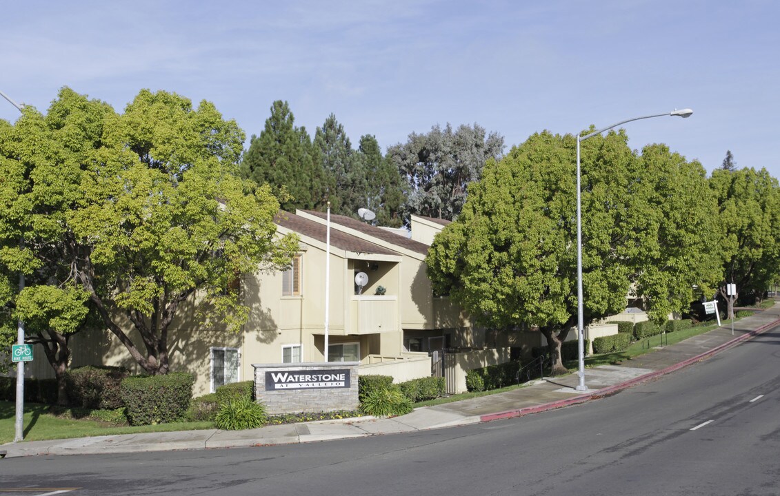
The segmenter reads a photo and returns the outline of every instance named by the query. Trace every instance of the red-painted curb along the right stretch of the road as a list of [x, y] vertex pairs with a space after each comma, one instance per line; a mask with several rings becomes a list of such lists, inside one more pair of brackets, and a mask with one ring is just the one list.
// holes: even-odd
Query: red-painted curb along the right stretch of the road
[[530, 415], [531, 413], [541, 413], [548, 410], [556, 410], [558, 408], [563, 408], [565, 406], [579, 405], [580, 403], [585, 403], [587, 401], [590, 401], [591, 399], [601, 399], [604, 398], [605, 396], [611, 396], [616, 392], [622, 391], [623, 389], [628, 389], [635, 385], [639, 385], [643, 382], [647, 382], [654, 378], [660, 377], [661, 375], [666, 375], [669, 374], [670, 372], [687, 367], [688, 365], [694, 364], [697, 361], [702, 361], [705, 358], [711, 357], [714, 354], [718, 354], [722, 351], [725, 351], [732, 346], [736, 346], [737, 344], [742, 343], [743, 341], [746, 341], [747, 339], [750, 339], [753, 336], [757, 336], [768, 329], [772, 329], [777, 325], [780, 325], [780, 318], [772, 322], [769, 322], [768, 324], [761, 325], [761, 327], [757, 327], [756, 329], [753, 329], [750, 332], [746, 332], [742, 336], [737, 336], [736, 338], [731, 339], [730, 341], [715, 346], [711, 350], [707, 350], [702, 354], [698, 354], [695, 357], [690, 357], [686, 360], [679, 362], [678, 364], [669, 365], [667, 368], [662, 368], [659, 371], [654, 371], [654, 372], [650, 372], [649, 374], [640, 375], [640, 377], [630, 379], [629, 381], [621, 382], [620, 384], [611, 385], [604, 389], [597, 389], [594, 392], [585, 393], [580, 396], [574, 396], [573, 398], [569, 398], [569, 399], [561, 399], [558, 401], [553, 401], [551, 403], [544, 403], [537, 406], [527, 406], [526, 408], [519, 408], [517, 410], [507, 410], [505, 412], [487, 413], [485, 415], [480, 415], [480, 422], [491, 422], [492, 420], [524, 417], [526, 415]]

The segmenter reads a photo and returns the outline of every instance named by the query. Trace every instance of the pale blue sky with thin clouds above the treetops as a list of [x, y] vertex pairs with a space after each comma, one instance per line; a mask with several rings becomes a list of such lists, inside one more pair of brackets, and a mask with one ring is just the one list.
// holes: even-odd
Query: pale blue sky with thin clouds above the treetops
[[[0, 91], [48, 109], [62, 86], [116, 111], [144, 88], [213, 102], [259, 135], [287, 100], [311, 135], [335, 114], [383, 150], [478, 124], [534, 132], [691, 108], [623, 127], [712, 171], [780, 178], [780, 2], [388, 0], [2, 2]], [[0, 99], [0, 118], [19, 112]], [[248, 141], [246, 143], [248, 146]]]

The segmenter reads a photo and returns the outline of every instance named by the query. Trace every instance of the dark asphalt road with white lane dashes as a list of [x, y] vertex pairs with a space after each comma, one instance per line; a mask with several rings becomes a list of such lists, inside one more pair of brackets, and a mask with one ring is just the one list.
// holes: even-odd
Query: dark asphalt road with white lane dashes
[[0, 494], [776, 496], [778, 345], [774, 329], [615, 396], [468, 427], [253, 449], [6, 459]]

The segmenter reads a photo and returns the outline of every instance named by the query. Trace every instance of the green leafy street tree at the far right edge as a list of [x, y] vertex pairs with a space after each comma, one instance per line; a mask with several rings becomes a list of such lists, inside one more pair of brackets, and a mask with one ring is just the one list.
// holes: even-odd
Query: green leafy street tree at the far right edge
[[780, 273], [780, 188], [766, 169], [752, 167], [713, 171], [710, 185], [718, 198], [718, 220], [724, 233], [725, 281], [719, 292], [731, 317], [733, 300], [726, 294], [726, 283], [736, 284], [737, 297], [750, 294], [756, 298]]

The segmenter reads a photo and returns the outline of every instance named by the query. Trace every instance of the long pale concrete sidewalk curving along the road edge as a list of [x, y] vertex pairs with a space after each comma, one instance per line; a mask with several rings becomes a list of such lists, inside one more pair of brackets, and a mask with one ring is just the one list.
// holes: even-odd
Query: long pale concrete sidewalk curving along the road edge
[[[562, 406], [584, 403], [626, 389], [703, 360], [751, 336], [780, 325], [780, 304], [682, 343], [664, 346], [620, 365], [602, 365], [585, 371], [587, 392], [574, 389], [576, 374], [544, 378], [525, 388], [438, 406], [424, 406], [402, 417], [359, 417], [305, 424], [273, 425], [248, 431], [178, 431], [121, 434], [93, 438], [23, 441], [0, 445], [7, 457], [36, 455], [87, 455], [98, 453], [151, 452], [174, 449], [234, 448], [282, 445], [332, 439], [362, 438], [377, 434], [421, 431], [440, 427], [477, 424], [519, 417]], [[2, 464], [2, 462], [0, 462]]]

